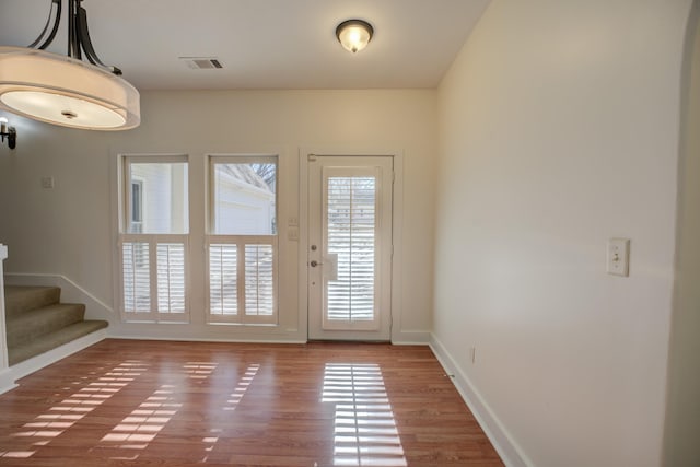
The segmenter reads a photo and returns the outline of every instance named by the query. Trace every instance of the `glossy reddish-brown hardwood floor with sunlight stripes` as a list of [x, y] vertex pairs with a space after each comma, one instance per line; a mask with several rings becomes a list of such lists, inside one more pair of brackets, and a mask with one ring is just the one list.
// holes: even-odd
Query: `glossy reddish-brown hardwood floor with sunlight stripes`
[[104, 340], [0, 396], [0, 465], [501, 466], [428, 347]]

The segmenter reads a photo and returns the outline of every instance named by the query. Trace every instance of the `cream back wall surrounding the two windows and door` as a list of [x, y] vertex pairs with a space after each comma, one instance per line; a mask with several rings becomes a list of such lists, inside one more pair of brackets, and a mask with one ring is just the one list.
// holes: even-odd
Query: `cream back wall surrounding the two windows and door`
[[[232, 91], [142, 93], [142, 125], [127, 132], [51, 127], [5, 114], [18, 148], [0, 148], [0, 243], [8, 272], [63, 275], [114, 306], [114, 219], [117, 153], [190, 155], [190, 246], [194, 278], [203, 278], [206, 154], [281, 153], [280, 323], [276, 329], [203, 325], [203, 290], [192, 291], [189, 327], [119, 325], [119, 336], [304, 340], [298, 306], [298, 243], [287, 219], [299, 215], [299, 150], [394, 151], [404, 155], [402, 288], [398, 340], [431, 327], [432, 224], [436, 91]], [[52, 175], [56, 188], [43, 189]], [[89, 312], [90, 313], [90, 312]], [[116, 317], [116, 314], [114, 315]], [[116, 319], [116, 318], [115, 318]], [[415, 331], [415, 334], [413, 334]]]

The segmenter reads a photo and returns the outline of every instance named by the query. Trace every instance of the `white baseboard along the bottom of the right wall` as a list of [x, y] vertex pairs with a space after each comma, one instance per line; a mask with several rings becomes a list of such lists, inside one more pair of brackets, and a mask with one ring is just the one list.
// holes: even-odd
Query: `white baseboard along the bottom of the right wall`
[[454, 375], [453, 384], [464, 401], [474, 413], [479, 425], [491, 441], [491, 444], [509, 467], [528, 467], [534, 464], [524, 455], [522, 448], [513, 441], [500, 420], [495, 417], [479, 392], [474, 387], [467, 375], [462, 371], [456, 360], [450, 354], [445, 346], [431, 335], [430, 348], [438, 361], [448, 375]]

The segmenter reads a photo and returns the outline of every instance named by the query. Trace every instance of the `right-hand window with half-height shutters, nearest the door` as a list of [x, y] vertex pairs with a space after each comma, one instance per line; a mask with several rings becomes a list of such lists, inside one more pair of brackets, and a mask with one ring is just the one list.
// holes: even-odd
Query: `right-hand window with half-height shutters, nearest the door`
[[210, 157], [208, 323], [277, 323], [277, 156]]

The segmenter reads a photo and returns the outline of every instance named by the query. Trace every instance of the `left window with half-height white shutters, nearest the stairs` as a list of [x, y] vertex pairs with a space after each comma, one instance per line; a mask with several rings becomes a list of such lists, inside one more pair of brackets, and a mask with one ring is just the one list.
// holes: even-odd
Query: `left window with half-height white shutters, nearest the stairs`
[[188, 322], [187, 160], [127, 156], [122, 162], [122, 318]]

